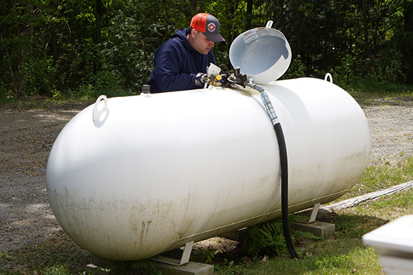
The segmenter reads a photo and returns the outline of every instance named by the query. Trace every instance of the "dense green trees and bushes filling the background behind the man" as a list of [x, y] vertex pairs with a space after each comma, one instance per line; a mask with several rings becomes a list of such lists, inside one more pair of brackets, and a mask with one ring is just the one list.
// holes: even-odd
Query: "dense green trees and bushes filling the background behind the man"
[[[0, 100], [138, 94], [150, 77], [156, 48], [197, 12], [219, 19], [226, 42], [216, 43], [214, 53], [218, 64], [230, 69], [232, 41], [273, 20], [293, 52], [283, 78], [330, 72], [339, 85], [364, 79], [409, 83], [412, 5], [406, 0], [366, 1], [365, 9], [358, 1], [337, 0], [3, 1]], [[83, 92], [89, 94], [78, 96]]]

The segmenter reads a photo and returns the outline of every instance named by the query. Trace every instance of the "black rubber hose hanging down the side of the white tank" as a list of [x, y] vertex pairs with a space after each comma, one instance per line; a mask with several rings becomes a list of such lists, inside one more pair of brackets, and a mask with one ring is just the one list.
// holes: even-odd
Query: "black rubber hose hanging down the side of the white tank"
[[279, 162], [281, 164], [281, 212], [282, 212], [282, 228], [284, 230], [284, 239], [288, 252], [290, 252], [291, 258], [298, 258], [297, 252], [295, 252], [293, 239], [291, 237], [290, 220], [288, 218], [288, 160], [286, 140], [284, 139], [284, 133], [282, 126], [279, 122], [274, 125], [275, 134], [277, 135], [278, 147], [279, 147]]

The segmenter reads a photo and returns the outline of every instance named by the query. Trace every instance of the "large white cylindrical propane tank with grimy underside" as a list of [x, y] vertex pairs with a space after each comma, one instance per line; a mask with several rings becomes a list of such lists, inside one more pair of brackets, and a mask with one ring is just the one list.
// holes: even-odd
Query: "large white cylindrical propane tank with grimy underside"
[[[357, 102], [315, 78], [262, 86], [284, 130], [290, 212], [352, 188], [370, 155]], [[280, 217], [279, 174], [258, 92], [212, 87], [99, 99], [56, 138], [47, 193], [76, 243], [129, 261]]]

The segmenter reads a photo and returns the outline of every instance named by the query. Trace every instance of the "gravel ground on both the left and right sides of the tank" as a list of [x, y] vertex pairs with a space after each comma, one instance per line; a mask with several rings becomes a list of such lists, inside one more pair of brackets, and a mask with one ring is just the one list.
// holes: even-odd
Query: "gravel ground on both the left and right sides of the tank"
[[[61, 231], [47, 201], [47, 156], [63, 126], [85, 106], [0, 109], [0, 254]], [[372, 133], [370, 165], [413, 155], [412, 98], [362, 102]]]

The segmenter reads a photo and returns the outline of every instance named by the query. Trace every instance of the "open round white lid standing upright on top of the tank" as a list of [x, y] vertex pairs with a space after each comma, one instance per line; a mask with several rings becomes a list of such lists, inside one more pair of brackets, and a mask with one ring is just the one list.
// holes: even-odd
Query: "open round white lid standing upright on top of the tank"
[[254, 83], [265, 84], [280, 78], [291, 62], [291, 48], [284, 34], [271, 28], [268, 21], [265, 28], [243, 32], [229, 48], [229, 60], [233, 67], [251, 76]]

